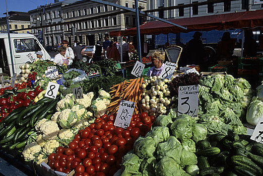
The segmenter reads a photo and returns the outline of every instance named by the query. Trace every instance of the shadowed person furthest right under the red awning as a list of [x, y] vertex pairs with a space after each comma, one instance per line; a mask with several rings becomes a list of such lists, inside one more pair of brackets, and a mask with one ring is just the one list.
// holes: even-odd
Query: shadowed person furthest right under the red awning
[[251, 30], [245, 31], [243, 56], [256, 56], [256, 41], [253, 39], [253, 32]]

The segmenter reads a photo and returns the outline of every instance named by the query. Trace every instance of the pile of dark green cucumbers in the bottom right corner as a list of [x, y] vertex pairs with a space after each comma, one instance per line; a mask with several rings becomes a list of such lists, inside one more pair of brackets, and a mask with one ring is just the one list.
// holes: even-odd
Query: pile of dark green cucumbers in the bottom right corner
[[196, 144], [200, 175], [260, 176], [263, 168], [263, 144], [247, 135], [217, 133]]

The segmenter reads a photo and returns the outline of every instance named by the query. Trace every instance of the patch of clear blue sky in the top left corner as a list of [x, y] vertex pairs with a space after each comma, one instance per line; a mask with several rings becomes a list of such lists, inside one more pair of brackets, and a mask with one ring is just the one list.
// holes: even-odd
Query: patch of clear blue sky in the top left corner
[[[28, 12], [30, 10], [36, 9], [37, 6], [45, 5], [48, 2], [54, 3], [54, 0], [7, 0], [8, 11], [19, 11]], [[2, 6], [0, 6], [0, 17], [5, 17], [3, 13], [7, 12], [6, 1], [2, 0]]]

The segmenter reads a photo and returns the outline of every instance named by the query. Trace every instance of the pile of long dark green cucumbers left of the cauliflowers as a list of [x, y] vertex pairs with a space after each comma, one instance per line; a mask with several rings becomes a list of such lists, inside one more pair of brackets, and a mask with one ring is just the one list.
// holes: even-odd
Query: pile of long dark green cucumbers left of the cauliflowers
[[17, 149], [22, 152], [27, 141], [34, 132], [35, 124], [43, 119], [50, 119], [55, 112], [56, 104], [60, 100], [43, 98], [27, 108], [13, 110], [0, 122], [0, 145], [3, 148]]

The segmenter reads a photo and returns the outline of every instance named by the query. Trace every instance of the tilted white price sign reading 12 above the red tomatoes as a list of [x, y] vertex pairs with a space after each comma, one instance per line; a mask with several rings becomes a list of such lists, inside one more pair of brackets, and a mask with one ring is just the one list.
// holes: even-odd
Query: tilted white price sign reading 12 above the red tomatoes
[[134, 108], [135, 102], [121, 100], [114, 125], [121, 128], [127, 128], [133, 116]]

